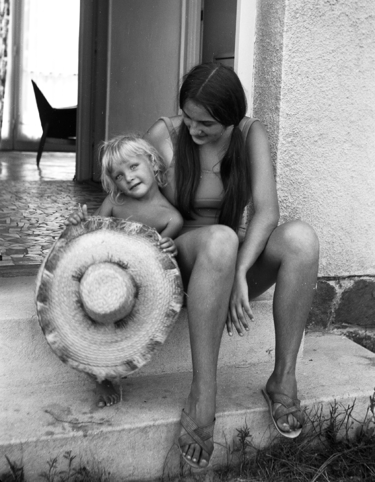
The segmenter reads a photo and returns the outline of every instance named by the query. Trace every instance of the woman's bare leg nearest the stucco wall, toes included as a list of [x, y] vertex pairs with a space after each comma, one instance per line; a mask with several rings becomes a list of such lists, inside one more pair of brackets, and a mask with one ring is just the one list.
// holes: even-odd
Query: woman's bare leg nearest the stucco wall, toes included
[[[297, 398], [295, 363], [314, 297], [318, 262], [319, 241], [314, 230], [301, 221], [291, 221], [272, 232], [265, 250], [247, 273], [249, 298], [263, 293], [276, 281], [275, 368], [266, 385], [268, 393]], [[275, 404], [275, 410], [278, 406]], [[278, 425], [283, 431], [299, 427], [292, 415], [281, 417]]]

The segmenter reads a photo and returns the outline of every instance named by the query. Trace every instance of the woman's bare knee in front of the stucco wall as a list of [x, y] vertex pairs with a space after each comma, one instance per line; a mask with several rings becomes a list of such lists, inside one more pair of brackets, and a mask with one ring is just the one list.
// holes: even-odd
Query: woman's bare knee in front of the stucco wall
[[306, 261], [319, 259], [319, 239], [314, 229], [304, 221], [290, 221], [280, 226], [287, 252]]

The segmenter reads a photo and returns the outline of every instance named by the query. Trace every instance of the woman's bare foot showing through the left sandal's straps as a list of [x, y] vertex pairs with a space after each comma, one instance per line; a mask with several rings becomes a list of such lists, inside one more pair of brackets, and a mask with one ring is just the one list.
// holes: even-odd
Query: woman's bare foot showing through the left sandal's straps
[[[211, 394], [205, 397], [193, 396], [192, 395], [193, 388], [188, 396], [188, 400], [184, 407], [184, 412], [192, 418], [198, 427], [206, 427], [214, 421], [215, 418], [215, 405], [214, 401], [208, 400], [212, 399]], [[214, 390], [216, 392], [216, 390]], [[214, 393], [214, 400], [216, 397], [216, 393]], [[180, 437], [185, 435], [187, 431], [185, 428], [181, 426], [180, 428]], [[206, 443], [213, 444], [214, 437], [209, 438], [206, 440]], [[190, 443], [189, 445], [180, 446], [182, 455], [193, 462], [193, 464], [197, 464], [200, 468], [207, 467], [210, 463], [210, 454], [203, 450], [200, 445], [197, 443]]]

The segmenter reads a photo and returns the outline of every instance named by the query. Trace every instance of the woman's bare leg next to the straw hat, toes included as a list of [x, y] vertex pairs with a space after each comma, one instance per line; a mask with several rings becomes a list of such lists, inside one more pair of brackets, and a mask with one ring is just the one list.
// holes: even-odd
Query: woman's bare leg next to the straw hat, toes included
[[[235, 232], [226, 226], [192, 230], [175, 240], [184, 285], [193, 380], [185, 412], [199, 427], [214, 420], [216, 368], [221, 335], [228, 313], [238, 250]], [[185, 430], [182, 429], [182, 433]], [[181, 447], [188, 459], [205, 467], [209, 455], [197, 444]]]

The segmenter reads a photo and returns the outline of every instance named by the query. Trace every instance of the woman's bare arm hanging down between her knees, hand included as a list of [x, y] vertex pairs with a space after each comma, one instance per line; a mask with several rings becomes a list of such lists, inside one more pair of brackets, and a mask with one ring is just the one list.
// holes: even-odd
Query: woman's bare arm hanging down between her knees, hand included
[[232, 323], [240, 335], [243, 335], [240, 321], [245, 329], [248, 329], [243, 310], [250, 320], [254, 321], [249, 304], [246, 273], [264, 250], [280, 217], [268, 137], [265, 128], [258, 121], [253, 122], [250, 127], [246, 149], [250, 159], [251, 194], [255, 213], [247, 227], [245, 239], [237, 256], [228, 311], [229, 335], [232, 334]]

